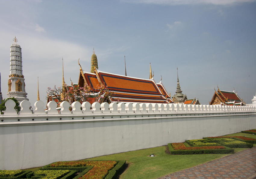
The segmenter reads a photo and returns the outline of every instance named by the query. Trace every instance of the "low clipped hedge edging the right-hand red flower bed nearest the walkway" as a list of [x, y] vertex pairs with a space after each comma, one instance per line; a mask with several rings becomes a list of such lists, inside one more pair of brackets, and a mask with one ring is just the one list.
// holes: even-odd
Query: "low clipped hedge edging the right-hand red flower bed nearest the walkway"
[[[184, 143], [185, 146], [187, 143]], [[188, 144], [187, 144], [188, 145]], [[189, 155], [189, 154], [225, 154], [225, 153], [234, 153], [234, 149], [229, 147], [224, 147], [225, 149], [199, 149], [199, 150], [174, 150], [172, 144], [168, 144], [169, 151], [171, 154], [176, 155]]]

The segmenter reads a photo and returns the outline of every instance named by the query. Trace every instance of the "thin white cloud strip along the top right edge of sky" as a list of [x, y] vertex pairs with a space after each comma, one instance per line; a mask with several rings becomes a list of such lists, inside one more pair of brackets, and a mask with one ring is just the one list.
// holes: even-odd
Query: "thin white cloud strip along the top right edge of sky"
[[255, 2], [256, 0], [123, 0], [125, 2], [160, 4], [160, 5], [189, 5], [189, 4], [214, 4], [231, 5], [244, 2]]

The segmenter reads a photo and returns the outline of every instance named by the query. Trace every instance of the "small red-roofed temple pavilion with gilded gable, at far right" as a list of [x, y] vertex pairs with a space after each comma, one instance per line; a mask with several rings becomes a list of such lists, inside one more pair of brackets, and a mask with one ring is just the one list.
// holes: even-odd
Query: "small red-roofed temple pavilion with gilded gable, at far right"
[[[215, 89], [214, 89], [215, 90]], [[237, 93], [235, 93], [235, 89], [233, 92], [230, 91], [222, 91], [219, 89], [214, 92], [214, 95], [209, 102], [210, 105], [227, 105], [227, 106], [243, 106], [243, 99], [241, 99]]]

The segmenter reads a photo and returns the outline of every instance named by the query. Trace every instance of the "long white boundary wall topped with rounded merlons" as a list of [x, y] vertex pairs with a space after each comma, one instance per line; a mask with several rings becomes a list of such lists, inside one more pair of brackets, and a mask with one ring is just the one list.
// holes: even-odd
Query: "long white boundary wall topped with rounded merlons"
[[81, 111], [81, 105], [73, 103], [70, 113], [64, 102], [62, 114], [58, 114], [55, 102], [49, 102], [45, 114], [39, 101], [35, 103], [37, 111], [33, 111], [36, 114], [32, 114], [30, 102], [23, 101], [17, 114], [12, 102], [7, 102], [5, 114], [0, 115], [0, 170], [33, 168], [256, 128], [256, 109], [248, 106], [94, 103], [91, 111], [91, 105], [83, 103]]

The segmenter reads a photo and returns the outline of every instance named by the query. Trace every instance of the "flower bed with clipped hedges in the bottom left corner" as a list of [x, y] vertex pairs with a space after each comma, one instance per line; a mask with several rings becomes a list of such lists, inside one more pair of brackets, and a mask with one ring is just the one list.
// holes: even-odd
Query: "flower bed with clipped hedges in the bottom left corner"
[[0, 179], [114, 179], [126, 161], [54, 162], [39, 170], [0, 170]]

